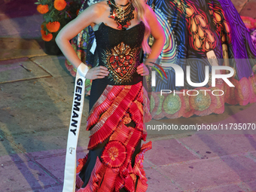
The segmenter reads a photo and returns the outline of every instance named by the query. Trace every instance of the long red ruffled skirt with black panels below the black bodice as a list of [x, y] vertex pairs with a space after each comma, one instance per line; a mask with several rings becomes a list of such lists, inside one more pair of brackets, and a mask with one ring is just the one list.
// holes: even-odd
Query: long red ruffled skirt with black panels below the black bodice
[[[92, 84], [91, 96], [95, 87]], [[142, 163], [152, 146], [140, 143], [146, 139], [149, 120], [148, 93], [142, 81], [106, 85], [87, 118], [90, 151], [78, 160], [76, 191], [146, 191]]]

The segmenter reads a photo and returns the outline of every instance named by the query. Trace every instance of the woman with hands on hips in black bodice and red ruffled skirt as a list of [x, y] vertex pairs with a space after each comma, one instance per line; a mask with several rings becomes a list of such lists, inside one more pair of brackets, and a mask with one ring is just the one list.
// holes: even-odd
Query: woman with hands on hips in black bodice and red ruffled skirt
[[[99, 66], [81, 62], [69, 40], [91, 26], [96, 37]], [[148, 36], [154, 44], [148, 46]], [[163, 28], [143, 0], [108, 0], [85, 9], [68, 23], [56, 40], [76, 69], [90, 67], [85, 78], [90, 90], [90, 150], [79, 160], [76, 191], [145, 191], [147, 178], [142, 162], [151, 148], [145, 141], [145, 122], [151, 120], [143, 78], [149, 74], [149, 59], [159, 56], [165, 42]], [[149, 53], [140, 63], [140, 53]]]

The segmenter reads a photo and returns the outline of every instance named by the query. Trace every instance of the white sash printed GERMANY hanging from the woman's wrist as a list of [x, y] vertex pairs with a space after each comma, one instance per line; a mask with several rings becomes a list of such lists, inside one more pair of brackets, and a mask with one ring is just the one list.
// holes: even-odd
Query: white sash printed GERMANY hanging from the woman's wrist
[[69, 124], [69, 136], [66, 151], [66, 163], [64, 173], [64, 184], [62, 192], [75, 192], [76, 175], [76, 148], [78, 146], [78, 135], [81, 124], [81, 117], [84, 107], [84, 84], [85, 75], [89, 68], [83, 62], [78, 66], [75, 77], [75, 90], [72, 104], [72, 114]]

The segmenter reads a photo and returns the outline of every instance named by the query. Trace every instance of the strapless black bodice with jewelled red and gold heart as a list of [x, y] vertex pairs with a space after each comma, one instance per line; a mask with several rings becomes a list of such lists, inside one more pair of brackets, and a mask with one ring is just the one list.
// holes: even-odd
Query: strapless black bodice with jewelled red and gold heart
[[105, 66], [110, 72], [105, 78], [95, 79], [104, 84], [128, 85], [143, 81], [143, 76], [136, 72], [140, 65], [140, 52], [145, 33], [145, 25], [141, 21], [125, 31], [99, 24], [94, 31], [99, 66]]

